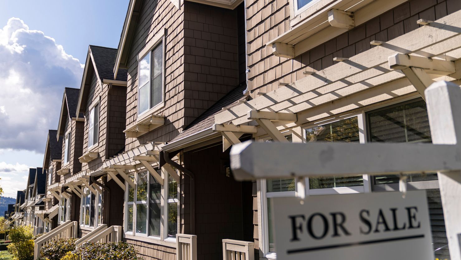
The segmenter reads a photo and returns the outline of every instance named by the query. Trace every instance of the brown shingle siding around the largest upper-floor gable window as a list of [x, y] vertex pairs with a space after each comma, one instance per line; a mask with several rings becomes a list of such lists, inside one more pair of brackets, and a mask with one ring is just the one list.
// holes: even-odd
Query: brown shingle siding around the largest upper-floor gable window
[[[165, 125], [138, 138], [127, 138], [125, 151], [151, 141], [174, 139], [199, 115], [239, 85], [239, 62], [244, 59], [244, 48], [239, 48], [239, 42], [241, 45], [244, 42], [244, 34], [240, 34], [239, 41], [237, 10], [189, 1], [178, 10], [170, 0], [144, 0], [140, 5], [139, 10], [142, 11], [127, 47], [130, 51], [127, 56], [126, 126], [133, 125], [138, 119], [137, 56], [163, 31], [165, 104], [158, 111], [149, 113], [165, 116]], [[243, 12], [243, 8], [238, 10]], [[243, 55], [239, 56], [239, 50]], [[242, 69], [244, 71], [244, 67]]]

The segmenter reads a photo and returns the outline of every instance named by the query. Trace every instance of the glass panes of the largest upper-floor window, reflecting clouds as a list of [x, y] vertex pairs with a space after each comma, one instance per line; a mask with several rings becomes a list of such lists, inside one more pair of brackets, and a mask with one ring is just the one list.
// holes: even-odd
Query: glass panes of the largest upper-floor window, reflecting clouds
[[163, 101], [163, 41], [139, 61], [138, 114]]

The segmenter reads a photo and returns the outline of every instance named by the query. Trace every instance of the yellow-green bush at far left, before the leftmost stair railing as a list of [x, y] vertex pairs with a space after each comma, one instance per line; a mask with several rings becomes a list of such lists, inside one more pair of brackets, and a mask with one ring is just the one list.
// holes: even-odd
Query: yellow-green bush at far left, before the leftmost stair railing
[[14, 260], [34, 259], [34, 228], [32, 226], [18, 226], [10, 230], [11, 244], [7, 246]]

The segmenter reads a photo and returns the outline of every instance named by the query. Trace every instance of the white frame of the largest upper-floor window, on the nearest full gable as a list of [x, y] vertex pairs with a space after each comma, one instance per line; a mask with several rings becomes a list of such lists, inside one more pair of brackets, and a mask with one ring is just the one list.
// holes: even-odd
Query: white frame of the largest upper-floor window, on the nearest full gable
[[[149, 43], [144, 49], [142, 49], [142, 51], [140, 51], [140, 53], [138, 54], [138, 57], [137, 57], [137, 62], [138, 62], [138, 67], [137, 67], [137, 76], [136, 76], [136, 79], [137, 79], [137, 113], [136, 113], [136, 116], [137, 116], [137, 121], [141, 121], [142, 119], [146, 118], [148, 115], [152, 115], [154, 112], [156, 112], [157, 110], [163, 108], [165, 106], [165, 33], [162, 33], [161, 35], [158, 35], [158, 36], [154, 36], [154, 39], [151, 40], [152, 43]], [[151, 73], [152, 73], [152, 54], [153, 54], [153, 51], [155, 48], [157, 48], [159, 45], [162, 45], [162, 74], [161, 74], [161, 77], [162, 77], [162, 84], [161, 84], [161, 96], [162, 96], [162, 100], [160, 101], [159, 104], [155, 105], [154, 107], [151, 108], [151, 91], [152, 91], [152, 79], [151, 79]], [[144, 111], [140, 111], [139, 110], [139, 101], [140, 101], [140, 84], [139, 84], [139, 76], [140, 76], [140, 62], [141, 60], [143, 60], [147, 55], [150, 55], [150, 63], [149, 63], [149, 105], [148, 105], [148, 109], [144, 110]], [[144, 85], [143, 85], [144, 86]]]

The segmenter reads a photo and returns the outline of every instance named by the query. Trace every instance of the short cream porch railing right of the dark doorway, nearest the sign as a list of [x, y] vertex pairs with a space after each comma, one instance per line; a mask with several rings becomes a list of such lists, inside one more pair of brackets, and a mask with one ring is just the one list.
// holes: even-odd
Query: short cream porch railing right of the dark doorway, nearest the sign
[[254, 260], [254, 242], [223, 239], [223, 260]]

